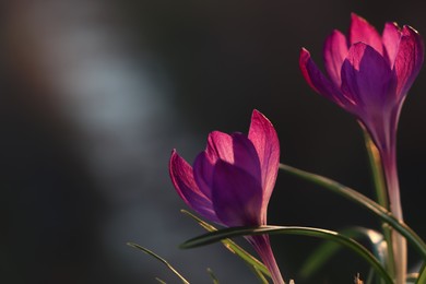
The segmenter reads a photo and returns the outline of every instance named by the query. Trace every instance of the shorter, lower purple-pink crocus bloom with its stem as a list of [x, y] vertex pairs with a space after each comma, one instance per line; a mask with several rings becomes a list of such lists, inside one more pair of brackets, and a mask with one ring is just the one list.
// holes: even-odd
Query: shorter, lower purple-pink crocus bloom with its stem
[[[171, 181], [180, 198], [197, 213], [220, 225], [267, 225], [267, 209], [280, 165], [280, 143], [272, 123], [253, 110], [248, 135], [209, 134], [205, 151], [191, 167], [174, 150]], [[272, 274], [284, 283], [268, 235], [248, 236]]]

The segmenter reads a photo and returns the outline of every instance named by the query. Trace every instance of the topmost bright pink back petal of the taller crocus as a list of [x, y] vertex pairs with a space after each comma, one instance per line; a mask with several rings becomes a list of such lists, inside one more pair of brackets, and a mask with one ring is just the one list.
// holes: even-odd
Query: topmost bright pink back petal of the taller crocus
[[380, 55], [383, 54], [381, 37], [374, 26], [371, 26], [364, 17], [352, 13], [351, 27], [348, 32], [350, 45], [364, 43], [371, 46]]

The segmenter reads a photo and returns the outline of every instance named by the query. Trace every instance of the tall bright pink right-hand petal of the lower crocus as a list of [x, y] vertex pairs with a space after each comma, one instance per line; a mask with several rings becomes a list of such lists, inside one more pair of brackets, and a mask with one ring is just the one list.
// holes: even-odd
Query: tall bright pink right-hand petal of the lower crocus
[[251, 115], [251, 123], [248, 138], [251, 140], [258, 153], [262, 170], [263, 204], [268, 205], [272, 190], [275, 186], [280, 166], [280, 141], [271, 121], [258, 110]]

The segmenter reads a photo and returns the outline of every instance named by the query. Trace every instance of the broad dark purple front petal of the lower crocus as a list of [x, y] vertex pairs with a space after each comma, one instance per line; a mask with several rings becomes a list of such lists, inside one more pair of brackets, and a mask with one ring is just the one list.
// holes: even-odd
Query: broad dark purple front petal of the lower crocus
[[244, 169], [218, 161], [213, 174], [212, 200], [217, 217], [226, 226], [264, 225], [262, 187]]

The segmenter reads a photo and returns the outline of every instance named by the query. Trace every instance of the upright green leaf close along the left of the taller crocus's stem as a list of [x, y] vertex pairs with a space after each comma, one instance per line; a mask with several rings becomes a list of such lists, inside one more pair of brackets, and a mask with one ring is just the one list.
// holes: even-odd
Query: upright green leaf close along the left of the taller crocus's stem
[[[375, 143], [372, 142], [370, 135], [366, 130], [364, 130], [364, 139], [365, 139], [365, 144], [370, 162], [370, 167], [371, 167], [371, 174], [372, 174], [372, 179], [375, 182], [375, 189], [376, 189], [376, 196], [377, 196], [377, 201], [378, 203], [387, 209], [388, 211], [390, 210], [389, 208], [389, 199], [388, 199], [388, 191], [386, 188], [386, 181], [384, 181], [384, 176], [383, 176], [383, 168], [381, 166], [381, 158], [380, 158], [380, 153], [377, 150]], [[393, 255], [393, 241], [392, 241], [392, 228], [389, 227], [384, 222], [381, 222], [381, 226], [383, 229], [383, 237], [387, 244], [387, 251], [388, 251], [388, 258], [387, 258], [387, 268], [389, 271], [389, 274], [394, 276], [395, 275], [395, 259]]]

